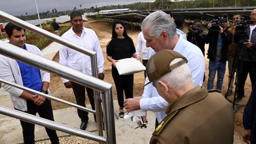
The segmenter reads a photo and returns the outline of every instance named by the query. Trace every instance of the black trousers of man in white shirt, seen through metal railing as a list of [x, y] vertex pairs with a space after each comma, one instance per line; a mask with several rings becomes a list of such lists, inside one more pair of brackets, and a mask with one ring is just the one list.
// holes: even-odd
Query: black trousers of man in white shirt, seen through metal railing
[[[86, 107], [85, 106], [85, 89], [86, 89], [87, 95], [89, 97], [89, 101], [91, 103], [91, 107], [92, 107], [93, 110], [95, 110], [93, 89], [90, 89], [90, 88], [85, 87], [83, 85], [79, 85], [79, 84], [74, 83], [74, 82], [71, 82], [71, 83], [72, 83], [72, 89], [73, 89], [74, 95], [76, 97], [76, 103], [78, 105]], [[77, 109], [77, 113], [78, 113], [78, 116], [79, 116], [79, 118], [81, 119], [82, 122], [88, 122], [88, 120], [89, 120], [88, 114], [89, 113], [87, 111]], [[95, 118], [96, 117], [94, 116], [94, 119]], [[95, 119], [95, 122], [96, 122], [96, 119]]]

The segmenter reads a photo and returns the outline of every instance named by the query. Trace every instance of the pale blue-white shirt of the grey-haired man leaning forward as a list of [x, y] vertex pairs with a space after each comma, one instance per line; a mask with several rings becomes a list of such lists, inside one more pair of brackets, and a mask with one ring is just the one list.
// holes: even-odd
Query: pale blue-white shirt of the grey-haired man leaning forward
[[[202, 86], [205, 62], [204, 55], [202, 54], [201, 50], [196, 45], [184, 40], [182, 37], [179, 37], [179, 40], [173, 50], [187, 58], [187, 65], [192, 72], [194, 85]], [[155, 52], [153, 49], [151, 49], [149, 53], [150, 56], [152, 56]], [[147, 77], [145, 83], [148, 83], [148, 81], [149, 80]], [[158, 122], [161, 122], [161, 120], [163, 120], [163, 118], [165, 118], [167, 115], [164, 112], [164, 109], [169, 105], [169, 103], [158, 94], [156, 88], [152, 85], [152, 83], [150, 83], [144, 87], [144, 92], [139, 105], [144, 111], [154, 111], [156, 113]]]

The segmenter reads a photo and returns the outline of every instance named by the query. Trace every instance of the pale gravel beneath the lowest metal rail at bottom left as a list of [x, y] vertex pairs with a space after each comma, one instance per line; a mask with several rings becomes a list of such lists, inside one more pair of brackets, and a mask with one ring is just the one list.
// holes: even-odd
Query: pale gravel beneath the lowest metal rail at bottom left
[[[92, 133], [98, 134], [97, 131], [93, 131]], [[37, 141], [35, 144], [50, 144], [50, 143], [51, 143], [50, 140], [40, 140], [40, 141]], [[96, 141], [89, 140], [82, 137], [77, 137], [74, 135], [59, 137], [59, 143], [60, 144], [98, 144], [98, 142]]]

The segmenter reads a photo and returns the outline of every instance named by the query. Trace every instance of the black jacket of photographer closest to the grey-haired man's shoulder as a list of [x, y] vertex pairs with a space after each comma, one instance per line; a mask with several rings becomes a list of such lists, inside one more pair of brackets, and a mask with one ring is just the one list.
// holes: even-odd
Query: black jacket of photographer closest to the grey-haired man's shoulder
[[196, 46], [198, 46], [198, 48], [200, 48], [200, 50], [202, 51], [203, 55], [204, 55], [204, 45], [205, 45], [205, 37], [206, 37], [207, 33], [205, 31], [202, 31], [200, 33], [196, 33], [195, 34], [195, 41], [196, 42], [192, 42], [192, 38], [193, 38], [193, 34], [191, 32], [187, 33], [187, 41], [195, 44]]

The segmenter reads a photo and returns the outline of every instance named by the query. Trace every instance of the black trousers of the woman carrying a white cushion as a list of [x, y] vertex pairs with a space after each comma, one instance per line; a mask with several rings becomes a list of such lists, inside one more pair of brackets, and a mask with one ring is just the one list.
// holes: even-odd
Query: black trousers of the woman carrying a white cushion
[[117, 89], [117, 100], [119, 107], [124, 107], [124, 94], [125, 99], [134, 97], [134, 74], [119, 75], [117, 68], [112, 65], [112, 77]]

